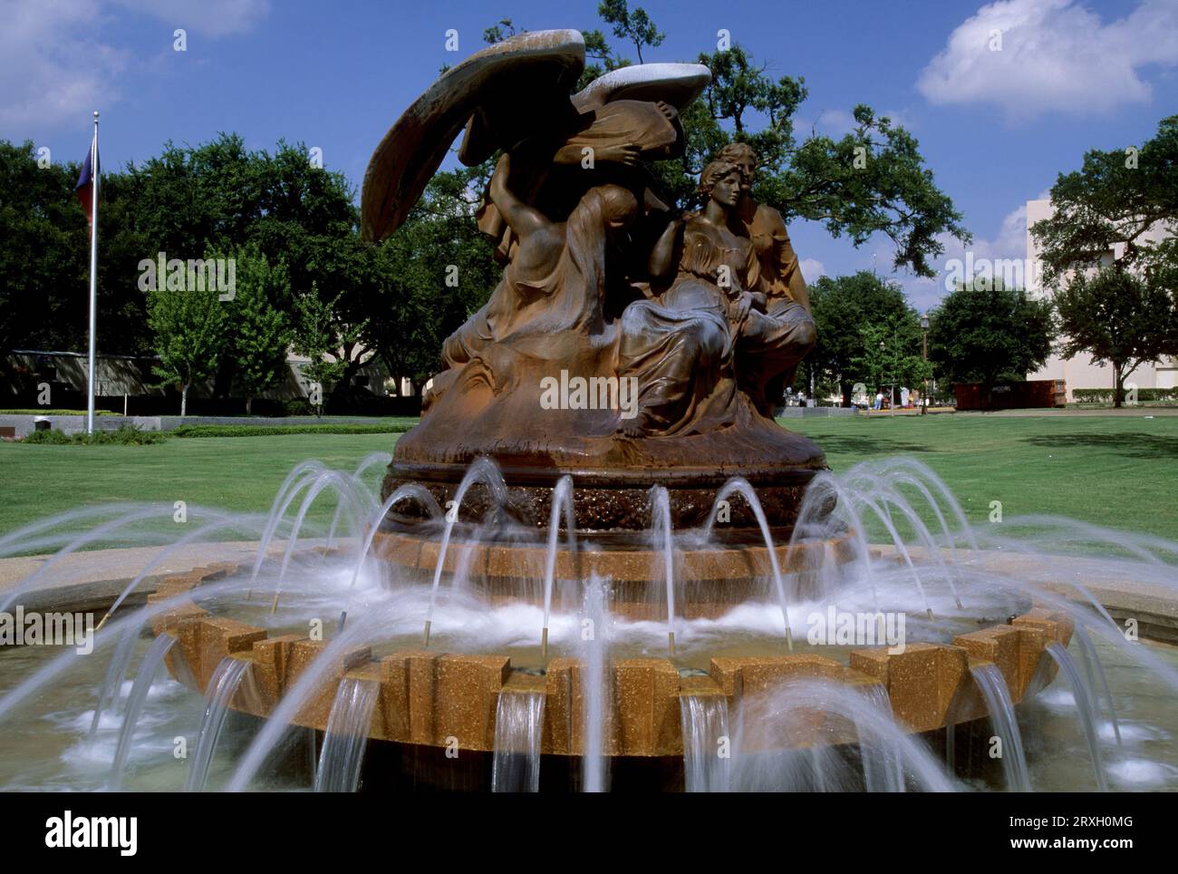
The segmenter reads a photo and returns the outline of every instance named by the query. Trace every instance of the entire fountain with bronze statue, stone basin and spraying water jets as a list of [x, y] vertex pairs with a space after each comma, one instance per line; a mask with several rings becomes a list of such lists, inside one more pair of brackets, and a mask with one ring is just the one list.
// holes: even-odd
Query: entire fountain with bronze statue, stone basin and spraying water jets
[[[522, 34], [392, 126], [370, 239], [463, 126], [463, 161], [502, 152], [478, 220], [504, 278], [446, 339], [421, 424], [391, 456], [297, 465], [264, 515], [190, 508], [105, 601], [95, 657], [0, 654], [0, 728], [27, 729], [6, 736], [53, 726], [0, 748], [0, 787], [947, 792], [1121, 768], [1178, 788], [1153, 743], [1178, 658], [1119, 624], [1172, 636], [1178, 543], [974, 529], [912, 459], [830, 471], [773, 418], [814, 329], [755, 155], [721, 152], [689, 216], [622, 159], [680, 153], [708, 71], [637, 65], [570, 98], [583, 64], [574, 31]], [[160, 511], [6, 535], [0, 556], [58, 552], [4, 604]], [[207, 561], [159, 570], [185, 550]]]

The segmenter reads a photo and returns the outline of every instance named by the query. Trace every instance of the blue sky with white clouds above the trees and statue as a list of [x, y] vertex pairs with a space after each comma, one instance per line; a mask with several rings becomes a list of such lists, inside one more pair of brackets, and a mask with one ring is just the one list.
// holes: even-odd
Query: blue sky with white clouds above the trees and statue
[[[631, 7], [635, 4], [631, 0]], [[667, 33], [644, 59], [693, 60], [716, 32], [774, 75], [802, 75], [799, 132], [839, 135], [859, 102], [919, 139], [940, 187], [965, 213], [975, 258], [1024, 257], [1027, 199], [1087, 148], [1124, 148], [1178, 112], [1178, 0], [699, 0], [640, 2]], [[359, 185], [384, 131], [437, 75], [483, 46], [499, 18], [518, 28], [605, 26], [596, 0], [267, 2], [0, 0], [0, 138], [80, 160], [102, 113], [106, 166], [172, 139], [236, 131], [323, 148]], [[173, 49], [184, 28], [187, 49]], [[459, 52], [445, 51], [445, 31]], [[991, 51], [1001, 32], [1000, 51]], [[614, 40], [616, 48], [627, 48]], [[633, 57], [633, 53], [626, 52]], [[818, 225], [790, 232], [809, 279], [891, 272], [886, 239], [858, 250]], [[942, 277], [896, 273], [921, 309]]]

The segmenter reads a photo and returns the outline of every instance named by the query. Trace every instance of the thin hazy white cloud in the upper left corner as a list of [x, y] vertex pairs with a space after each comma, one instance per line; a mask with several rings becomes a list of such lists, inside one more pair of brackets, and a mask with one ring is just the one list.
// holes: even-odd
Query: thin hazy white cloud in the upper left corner
[[37, 138], [108, 108], [135, 54], [100, 34], [115, 14], [141, 12], [209, 38], [251, 28], [269, 0], [0, 0], [0, 135]]

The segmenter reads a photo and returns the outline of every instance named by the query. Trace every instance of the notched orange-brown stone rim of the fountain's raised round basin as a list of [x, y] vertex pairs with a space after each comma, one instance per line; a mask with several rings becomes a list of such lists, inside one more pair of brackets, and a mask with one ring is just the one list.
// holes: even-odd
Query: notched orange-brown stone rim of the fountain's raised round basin
[[[326, 649], [326, 641], [300, 635], [270, 637], [263, 628], [218, 617], [190, 596], [204, 582], [236, 572], [226, 563], [196, 569], [163, 581], [150, 603], [173, 603], [152, 621], [154, 634], [171, 634], [178, 645], [167, 656], [172, 675], [191, 677], [197, 691], [207, 688], [226, 657], [250, 662], [250, 682], [230, 706], [269, 717], [285, 693]], [[730, 713], [742, 700], [768, 693], [795, 678], [834, 680], [853, 687], [882, 684], [896, 720], [913, 733], [986, 716], [971, 667], [997, 666], [1014, 703], [1051, 682], [1053, 661], [1044, 657], [1048, 643], [1071, 640], [1072, 623], [1064, 614], [1043, 608], [1013, 617], [1008, 624], [962, 634], [952, 644], [913, 643], [904, 653], [886, 647], [854, 650], [849, 666], [814, 654], [716, 657], [708, 675], [680, 674], [666, 658], [611, 662], [614, 688], [605, 754], [609, 756], [679, 756], [683, 751], [680, 698], [723, 696]], [[452, 747], [491, 751], [498, 697], [512, 693], [544, 696], [541, 750], [581, 755], [587, 706], [584, 670], [580, 660], [552, 658], [544, 674], [514, 669], [508, 656], [403, 650], [379, 660], [358, 647], [339, 654], [326, 681], [294, 715], [292, 723], [325, 730], [335, 691], [344, 677], [379, 684], [379, 697], [369, 727], [375, 740], [402, 744]], [[852, 743], [854, 726], [828, 714], [815, 714], [807, 728], [792, 727], [788, 737], [768, 735], [768, 748]]]

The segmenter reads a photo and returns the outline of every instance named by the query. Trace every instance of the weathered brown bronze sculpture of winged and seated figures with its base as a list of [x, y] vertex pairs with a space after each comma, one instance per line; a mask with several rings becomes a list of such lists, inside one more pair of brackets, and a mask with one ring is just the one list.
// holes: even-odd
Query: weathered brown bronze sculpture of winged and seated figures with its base
[[[651, 485], [671, 490], [676, 525], [697, 524], [716, 489], [742, 476], [770, 524], [787, 528], [826, 459], [773, 421], [815, 332], [786, 225], [749, 197], [756, 155], [724, 148], [701, 174], [703, 208], [681, 212], [649, 163], [682, 154], [680, 111], [708, 69], [637, 65], [570, 95], [583, 65], [576, 31], [483, 49], [372, 155], [362, 212], [379, 239], [463, 125], [463, 161], [501, 153], [478, 224], [503, 279], [445, 340], [384, 495], [413, 481], [449, 497], [485, 456], [525, 524], [547, 524], [545, 492], [571, 474], [578, 529], [636, 531], [649, 525]], [[733, 528], [754, 522], [744, 514]]]

